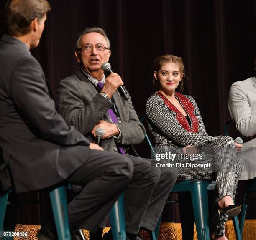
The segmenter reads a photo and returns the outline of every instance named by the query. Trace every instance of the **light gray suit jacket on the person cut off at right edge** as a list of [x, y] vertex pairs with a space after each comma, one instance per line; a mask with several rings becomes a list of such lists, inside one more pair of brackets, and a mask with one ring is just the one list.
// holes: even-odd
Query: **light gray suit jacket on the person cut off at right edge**
[[256, 78], [232, 84], [228, 98], [228, 109], [237, 130], [243, 136], [256, 134]]

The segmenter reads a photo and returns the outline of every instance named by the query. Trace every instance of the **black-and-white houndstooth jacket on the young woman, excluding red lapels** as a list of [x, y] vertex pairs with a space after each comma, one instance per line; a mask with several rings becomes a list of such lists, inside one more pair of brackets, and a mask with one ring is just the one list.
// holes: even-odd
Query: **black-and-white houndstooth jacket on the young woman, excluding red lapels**
[[[157, 152], [164, 152], [168, 147], [207, 147], [222, 136], [209, 136], [199, 108], [192, 96], [185, 95], [195, 107], [194, 114], [198, 119], [198, 133], [188, 132], [176, 119], [176, 112], [170, 110], [164, 100], [155, 92], [147, 101], [146, 115], [148, 128], [154, 138]], [[179, 101], [179, 99], [177, 98]], [[181, 101], [179, 101], [182, 105]], [[184, 109], [186, 111], [186, 109]]]

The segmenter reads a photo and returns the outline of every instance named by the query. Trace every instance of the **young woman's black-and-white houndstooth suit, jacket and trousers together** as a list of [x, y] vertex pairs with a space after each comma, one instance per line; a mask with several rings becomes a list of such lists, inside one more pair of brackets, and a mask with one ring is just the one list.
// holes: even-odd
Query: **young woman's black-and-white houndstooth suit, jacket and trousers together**
[[[147, 101], [146, 114], [148, 117], [148, 128], [151, 135], [154, 137], [156, 144], [156, 152], [166, 152], [174, 147], [185, 147], [190, 145], [192, 147], [207, 147], [207, 149], [232, 149], [233, 151], [219, 152], [212, 156], [210, 154], [204, 154], [203, 160], [206, 162], [214, 162], [217, 166], [227, 167], [228, 171], [216, 172], [212, 174], [211, 171], [204, 169], [177, 169], [178, 177], [177, 180], [216, 180], [216, 194], [217, 199], [220, 200], [224, 196], [235, 197], [236, 187], [238, 184], [238, 179], [241, 176], [243, 169], [243, 164], [239, 158], [236, 158], [236, 151], [234, 140], [230, 136], [209, 136], [205, 131], [205, 126], [202, 121], [202, 117], [195, 100], [189, 96], [185, 95], [195, 107], [194, 114], [198, 119], [199, 126], [198, 132], [188, 132], [184, 130], [183, 126], [176, 119], [176, 113], [170, 110], [164, 100], [154, 93]], [[176, 97], [177, 98], [177, 97]], [[177, 98], [179, 101], [179, 99]], [[180, 104], [181, 101], [179, 101]], [[184, 109], [186, 111], [186, 109]], [[190, 119], [191, 121], [191, 119]], [[231, 166], [231, 167], [230, 167]], [[232, 169], [232, 166], [235, 166]], [[232, 169], [231, 171], [230, 168]], [[236, 171], [234, 171], [236, 170]], [[216, 214], [211, 220], [210, 233], [213, 235], [225, 235], [224, 224], [228, 220], [228, 215], [223, 213], [220, 216], [220, 221], [218, 215]]]

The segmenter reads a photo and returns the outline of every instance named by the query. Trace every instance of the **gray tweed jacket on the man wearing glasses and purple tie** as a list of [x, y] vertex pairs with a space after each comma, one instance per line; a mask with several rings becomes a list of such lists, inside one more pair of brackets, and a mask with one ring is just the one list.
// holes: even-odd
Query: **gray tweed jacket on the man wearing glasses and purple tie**
[[[68, 125], [74, 126], [93, 142], [94, 138], [91, 134], [93, 127], [99, 120], [110, 122], [108, 109], [113, 104], [99, 94], [96, 87], [79, 70], [60, 82], [57, 93], [61, 116]], [[129, 97], [128, 101], [125, 101], [116, 91], [113, 100], [122, 121], [117, 123], [122, 133], [120, 145], [129, 147], [131, 144], [143, 141], [145, 129], [133, 109], [131, 98]], [[117, 152], [113, 137], [104, 139], [102, 147], [105, 150]]]

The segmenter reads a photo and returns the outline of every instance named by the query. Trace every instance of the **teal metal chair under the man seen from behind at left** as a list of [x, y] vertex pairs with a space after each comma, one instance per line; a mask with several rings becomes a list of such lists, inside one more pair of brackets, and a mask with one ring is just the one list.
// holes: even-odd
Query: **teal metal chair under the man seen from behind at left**
[[[0, 195], [0, 231], [3, 231], [3, 222], [5, 218], [5, 210], [8, 205], [9, 190], [3, 195]], [[69, 219], [67, 210], [67, 195], [65, 186], [56, 187], [49, 192], [51, 199], [51, 207], [54, 214], [54, 221], [59, 240], [71, 240], [69, 230]], [[4, 239], [4, 238], [2, 238]], [[7, 238], [10, 240], [10, 237]]]

